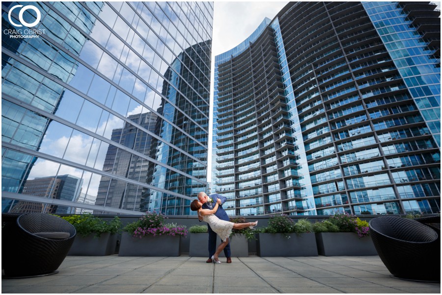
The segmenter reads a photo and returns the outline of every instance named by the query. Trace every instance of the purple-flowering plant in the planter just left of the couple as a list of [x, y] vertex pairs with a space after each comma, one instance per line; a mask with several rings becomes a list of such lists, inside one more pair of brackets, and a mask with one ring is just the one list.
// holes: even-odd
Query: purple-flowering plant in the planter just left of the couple
[[147, 212], [138, 221], [127, 224], [123, 231], [132, 234], [134, 238], [142, 238], [147, 235], [152, 236], [183, 236], [188, 233], [186, 226], [176, 223], [164, 224], [166, 217], [161, 213]]

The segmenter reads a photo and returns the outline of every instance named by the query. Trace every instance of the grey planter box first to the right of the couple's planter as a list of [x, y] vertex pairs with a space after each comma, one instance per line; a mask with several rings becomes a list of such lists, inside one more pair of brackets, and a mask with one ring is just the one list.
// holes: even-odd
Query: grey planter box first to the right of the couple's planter
[[256, 243], [258, 256], [318, 256], [314, 233], [289, 234], [259, 233]]

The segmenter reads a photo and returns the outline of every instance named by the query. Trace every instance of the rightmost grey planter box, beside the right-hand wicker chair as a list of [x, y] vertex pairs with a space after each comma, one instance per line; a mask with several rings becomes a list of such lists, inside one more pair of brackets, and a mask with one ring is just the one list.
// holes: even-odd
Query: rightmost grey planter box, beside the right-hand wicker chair
[[378, 255], [371, 237], [360, 238], [352, 232], [323, 232], [316, 234], [318, 253], [323, 256]]

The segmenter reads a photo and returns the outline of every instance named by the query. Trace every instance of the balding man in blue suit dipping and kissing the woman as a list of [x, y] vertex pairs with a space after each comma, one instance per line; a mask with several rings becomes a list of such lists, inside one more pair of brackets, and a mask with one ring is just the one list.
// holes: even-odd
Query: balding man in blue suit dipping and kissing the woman
[[[229, 221], [229, 216], [222, 208], [222, 204], [227, 200], [226, 197], [221, 196], [219, 194], [212, 194], [207, 196], [204, 192], [198, 193], [198, 200], [202, 203], [201, 208], [203, 209], [213, 209], [213, 206], [215, 205], [215, 202], [217, 202], [220, 206], [218, 207], [217, 212], [215, 212], [215, 216], [218, 217], [221, 220]], [[202, 221], [202, 218], [198, 218], [199, 221]], [[207, 228], [209, 231], [209, 259], [207, 259], [207, 263], [212, 263], [212, 255], [215, 254], [215, 251], [217, 249], [217, 234], [210, 228], [210, 226], [207, 224]], [[227, 257], [227, 263], [232, 263], [232, 258], [230, 257], [230, 243], [227, 244], [224, 248], [224, 255]]]

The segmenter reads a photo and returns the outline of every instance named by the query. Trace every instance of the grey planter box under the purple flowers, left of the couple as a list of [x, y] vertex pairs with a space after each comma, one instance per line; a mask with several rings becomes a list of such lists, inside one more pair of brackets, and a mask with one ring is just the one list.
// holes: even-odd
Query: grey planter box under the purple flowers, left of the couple
[[118, 256], [180, 256], [180, 238], [148, 235], [140, 239], [123, 232]]

